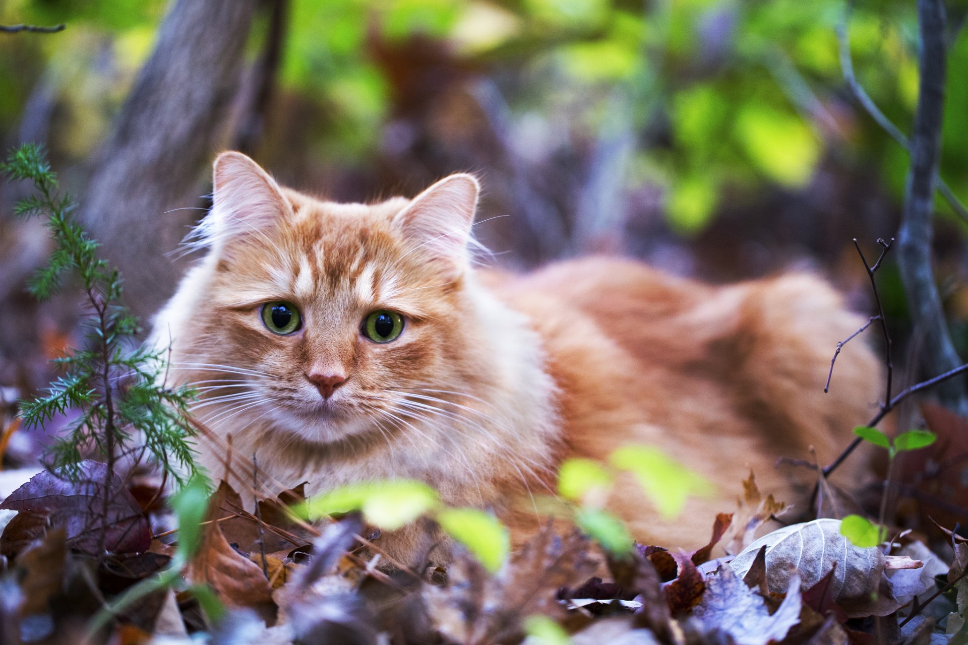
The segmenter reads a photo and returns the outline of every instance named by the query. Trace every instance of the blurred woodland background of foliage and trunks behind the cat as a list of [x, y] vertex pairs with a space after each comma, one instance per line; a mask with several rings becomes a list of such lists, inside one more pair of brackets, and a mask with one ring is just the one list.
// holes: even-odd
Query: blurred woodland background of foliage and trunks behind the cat
[[[213, 46], [238, 44], [237, 60], [219, 63], [231, 73], [218, 78], [224, 96], [201, 120], [203, 136], [179, 139], [166, 124], [197, 120], [192, 92], [212, 83], [198, 83], [193, 66], [214, 65], [211, 50], [175, 47], [182, 58], [171, 60], [186, 67], [169, 86], [142, 87], [142, 103], [131, 97], [167, 13], [188, 3], [0, 1], [0, 23], [67, 24], [0, 34], [0, 142], [45, 144], [142, 319], [190, 261], [169, 251], [204, 214], [210, 162], [226, 148], [337, 200], [412, 195], [450, 172], [475, 172], [485, 188], [476, 234], [514, 269], [590, 252], [717, 282], [809, 269], [853, 307], [871, 307], [851, 240], [874, 253], [878, 237], [895, 233], [908, 156], [847, 88], [836, 30], [849, 27], [859, 80], [908, 132], [918, 99], [913, 2], [863, 0], [849, 15], [842, 0], [239, 3], [251, 15], [212, 10], [172, 27], [174, 43], [197, 30]], [[950, 4], [941, 164], [962, 198], [968, 39], [957, 28], [966, 12], [963, 0]], [[161, 98], [150, 95], [159, 88]], [[133, 110], [183, 94], [165, 107], [173, 121], [155, 128], [165, 132], [137, 130]], [[149, 134], [165, 161], [129, 177], [132, 140]], [[25, 190], [0, 187], [0, 386], [17, 396], [45, 384], [46, 359], [72, 341], [77, 319], [70, 295], [37, 305], [24, 293], [48, 249], [40, 222], [13, 218]], [[124, 191], [155, 201], [124, 205], [137, 203], [129, 195], [112, 212]], [[939, 200], [936, 229], [936, 275], [964, 355], [965, 222]], [[890, 258], [879, 279], [898, 347], [917, 352]]]

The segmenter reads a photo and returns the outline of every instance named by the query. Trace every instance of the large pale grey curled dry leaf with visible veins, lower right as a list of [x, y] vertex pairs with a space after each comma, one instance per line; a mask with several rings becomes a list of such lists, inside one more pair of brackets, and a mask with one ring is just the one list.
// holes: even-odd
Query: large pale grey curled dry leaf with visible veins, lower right
[[744, 576], [763, 546], [767, 585], [773, 594], [786, 591], [791, 572], [800, 575], [803, 589], [810, 589], [835, 568], [832, 599], [848, 616], [886, 616], [902, 605], [884, 574], [880, 549], [849, 542], [840, 535], [839, 520], [815, 519], [777, 529], [747, 546], [731, 563], [733, 571]]

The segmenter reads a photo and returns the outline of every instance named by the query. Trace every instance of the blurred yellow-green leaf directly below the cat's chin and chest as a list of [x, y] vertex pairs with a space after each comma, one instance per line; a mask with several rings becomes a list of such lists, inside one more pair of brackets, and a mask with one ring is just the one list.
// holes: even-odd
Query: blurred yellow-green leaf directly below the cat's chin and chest
[[362, 511], [371, 524], [392, 531], [412, 522], [438, 504], [437, 492], [416, 480], [381, 480], [348, 484], [310, 499], [310, 519], [333, 513]]

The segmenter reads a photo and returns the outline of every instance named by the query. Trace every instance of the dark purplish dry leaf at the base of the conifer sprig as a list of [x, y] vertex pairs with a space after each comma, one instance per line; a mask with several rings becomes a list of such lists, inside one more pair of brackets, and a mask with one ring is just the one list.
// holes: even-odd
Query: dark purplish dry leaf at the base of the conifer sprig
[[[148, 520], [135, 497], [125, 488], [124, 481], [111, 475], [105, 509], [107, 466], [88, 459], [81, 461], [76, 468], [73, 478], [69, 478], [62, 468], [35, 475], [11, 493], [0, 504], [0, 509], [45, 513], [52, 527], [65, 530], [68, 546], [78, 551], [99, 554], [102, 534], [105, 549], [109, 552], [147, 551], [151, 546]], [[22, 528], [22, 525], [15, 525], [11, 530]], [[10, 529], [9, 524], [4, 536], [7, 536], [7, 529]], [[16, 539], [17, 536], [7, 536], [4, 542], [9, 545]]]

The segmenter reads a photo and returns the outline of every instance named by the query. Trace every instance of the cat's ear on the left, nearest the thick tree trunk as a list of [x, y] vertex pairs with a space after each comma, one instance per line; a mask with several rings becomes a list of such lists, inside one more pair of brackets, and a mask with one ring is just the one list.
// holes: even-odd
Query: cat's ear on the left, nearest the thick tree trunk
[[242, 153], [216, 158], [212, 185], [212, 211], [203, 226], [214, 248], [264, 243], [266, 231], [291, 212], [276, 180]]

